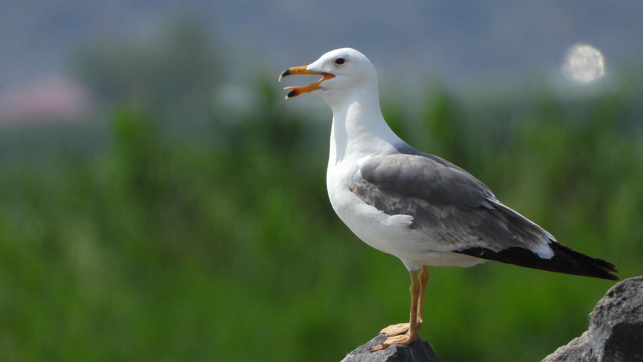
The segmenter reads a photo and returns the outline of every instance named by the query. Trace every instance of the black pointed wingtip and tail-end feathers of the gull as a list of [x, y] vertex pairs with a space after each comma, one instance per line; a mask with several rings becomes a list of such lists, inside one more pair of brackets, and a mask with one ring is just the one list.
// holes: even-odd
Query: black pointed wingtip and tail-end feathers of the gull
[[554, 256], [550, 259], [543, 259], [538, 254], [521, 247], [510, 247], [498, 252], [490, 249], [475, 247], [464, 251], [456, 251], [462, 254], [476, 256], [486, 260], [496, 262], [520, 265], [521, 267], [541, 269], [543, 271], [562, 272], [565, 274], [574, 274], [582, 276], [591, 276], [592, 278], [601, 278], [608, 280], [619, 280], [619, 276], [614, 273], [616, 265], [599, 258], [592, 258], [575, 251], [567, 245], [556, 241], [551, 241], [548, 246], [554, 251]]

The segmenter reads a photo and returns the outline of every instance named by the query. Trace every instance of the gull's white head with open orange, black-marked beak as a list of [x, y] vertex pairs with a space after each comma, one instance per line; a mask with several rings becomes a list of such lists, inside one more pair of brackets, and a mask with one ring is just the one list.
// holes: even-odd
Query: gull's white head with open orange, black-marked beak
[[293, 74], [318, 74], [321, 79], [303, 87], [284, 88], [291, 90], [285, 99], [311, 93], [331, 104], [338, 97], [346, 99], [354, 91], [370, 90], [377, 93], [375, 67], [366, 55], [352, 48], [331, 50], [311, 64], [288, 68], [279, 76], [279, 81]]

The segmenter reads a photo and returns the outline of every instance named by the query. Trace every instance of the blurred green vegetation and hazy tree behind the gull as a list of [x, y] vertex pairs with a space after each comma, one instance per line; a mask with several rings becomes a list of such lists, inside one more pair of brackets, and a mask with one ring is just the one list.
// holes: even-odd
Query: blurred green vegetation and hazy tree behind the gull
[[[408, 318], [403, 265], [327, 200], [330, 111], [283, 100], [276, 75], [299, 64], [252, 73], [234, 93], [252, 107], [224, 102], [229, 59], [202, 29], [81, 47], [94, 113], [0, 129], [3, 361], [339, 361]], [[471, 99], [432, 82], [383, 111], [626, 278], [643, 274], [643, 128], [636, 88], [613, 82]], [[421, 336], [444, 361], [539, 361], [611, 285], [435, 267]]]

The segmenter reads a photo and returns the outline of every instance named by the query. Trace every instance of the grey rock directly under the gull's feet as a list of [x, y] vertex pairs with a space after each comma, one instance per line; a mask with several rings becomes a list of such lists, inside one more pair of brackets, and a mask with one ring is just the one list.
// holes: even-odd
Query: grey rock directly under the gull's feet
[[431, 345], [423, 339], [408, 346], [390, 345], [385, 350], [368, 352], [368, 348], [381, 345], [385, 339], [385, 334], [376, 336], [350, 352], [341, 362], [440, 362]]

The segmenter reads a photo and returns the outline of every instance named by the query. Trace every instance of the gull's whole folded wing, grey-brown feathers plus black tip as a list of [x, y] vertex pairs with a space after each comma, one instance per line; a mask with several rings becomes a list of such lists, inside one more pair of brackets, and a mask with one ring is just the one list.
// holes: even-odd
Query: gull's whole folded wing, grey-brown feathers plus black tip
[[389, 215], [413, 216], [410, 226], [430, 247], [487, 260], [619, 280], [615, 265], [556, 242], [554, 236], [503, 205], [489, 187], [447, 160], [415, 151], [368, 158], [350, 191]]

